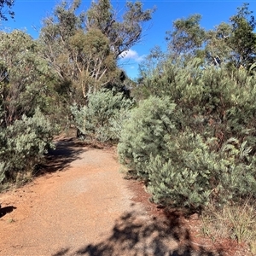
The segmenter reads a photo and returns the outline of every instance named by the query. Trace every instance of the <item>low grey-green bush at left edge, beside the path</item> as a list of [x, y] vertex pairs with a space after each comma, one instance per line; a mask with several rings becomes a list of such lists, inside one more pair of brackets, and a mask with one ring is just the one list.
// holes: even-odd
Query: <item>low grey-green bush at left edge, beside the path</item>
[[0, 182], [12, 180], [18, 172], [32, 172], [44, 160], [55, 127], [37, 109], [32, 118], [23, 115], [13, 125], [0, 128]]

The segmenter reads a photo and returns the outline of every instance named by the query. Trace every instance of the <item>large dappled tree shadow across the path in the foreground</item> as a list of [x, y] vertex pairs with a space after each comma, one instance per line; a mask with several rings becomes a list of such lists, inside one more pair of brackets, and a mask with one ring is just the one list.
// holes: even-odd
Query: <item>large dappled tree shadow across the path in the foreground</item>
[[[86, 227], [84, 227], [86, 229]], [[100, 227], [99, 227], [100, 229]], [[70, 248], [53, 255], [67, 255]], [[64, 254], [63, 254], [64, 253]], [[70, 255], [89, 256], [215, 256], [224, 251], [212, 251], [193, 242], [189, 229], [177, 212], [166, 218], [143, 218], [137, 212], [128, 212], [116, 220], [111, 235], [104, 241], [90, 243]]]

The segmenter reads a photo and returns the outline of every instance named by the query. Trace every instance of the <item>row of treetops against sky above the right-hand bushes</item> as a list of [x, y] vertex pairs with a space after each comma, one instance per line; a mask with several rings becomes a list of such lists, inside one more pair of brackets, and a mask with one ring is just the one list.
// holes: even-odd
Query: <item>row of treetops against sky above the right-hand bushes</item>
[[249, 4], [244, 3], [230, 22], [222, 22], [209, 31], [201, 27], [201, 15], [175, 20], [166, 37], [169, 52], [175, 58], [182, 55], [184, 61], [193, 56], [200, 57], [205, 65], [228, 64], [248, 69], [254, 62], [256, 45], [252, 14]]

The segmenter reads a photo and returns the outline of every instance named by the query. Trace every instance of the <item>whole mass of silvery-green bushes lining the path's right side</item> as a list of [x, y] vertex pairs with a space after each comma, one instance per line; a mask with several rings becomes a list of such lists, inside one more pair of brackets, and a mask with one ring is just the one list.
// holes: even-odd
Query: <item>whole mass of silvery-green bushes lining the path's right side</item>
[[131, 111], [119, 160], [148, 183], [154, 201], [193, 209], [256, 194], [255, 157], [247, 143], [204, 137], [189, 128], [169, 97], [149, 97]]

